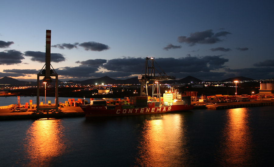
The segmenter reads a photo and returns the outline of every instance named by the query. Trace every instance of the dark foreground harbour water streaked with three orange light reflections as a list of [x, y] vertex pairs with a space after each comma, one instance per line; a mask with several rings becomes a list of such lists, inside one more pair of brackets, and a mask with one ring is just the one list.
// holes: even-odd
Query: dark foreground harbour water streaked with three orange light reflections
[[1, 166], [270, 166], [273, 109], [0, 121], [0, 162]]

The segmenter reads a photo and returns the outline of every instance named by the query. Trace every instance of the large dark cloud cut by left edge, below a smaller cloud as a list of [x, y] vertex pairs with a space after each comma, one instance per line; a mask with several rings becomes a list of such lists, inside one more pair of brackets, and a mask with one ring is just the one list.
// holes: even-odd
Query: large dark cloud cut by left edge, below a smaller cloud
[[4, 52], [0, 52], [0, 65], [11, 65], [11, 64], [19, 64], [22, 63], [21, 60], [25, 59], [23, 57], [23, 53], [16, 50], [5, 50]]

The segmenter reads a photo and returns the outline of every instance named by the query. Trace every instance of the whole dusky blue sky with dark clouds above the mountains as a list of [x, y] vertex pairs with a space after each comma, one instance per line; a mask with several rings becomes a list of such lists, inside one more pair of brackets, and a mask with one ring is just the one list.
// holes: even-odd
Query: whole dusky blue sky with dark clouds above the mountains
[[143, 73], [201, 80], [274, 77], [274, 1], [3, 1], [0, 77], [36, 81], [51, 30], [58, 78]]

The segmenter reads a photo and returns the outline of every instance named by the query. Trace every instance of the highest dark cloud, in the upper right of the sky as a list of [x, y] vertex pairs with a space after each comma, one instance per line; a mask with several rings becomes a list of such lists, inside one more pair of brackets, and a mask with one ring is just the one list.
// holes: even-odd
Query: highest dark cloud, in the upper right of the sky
[[180, 36], [178, 41], [180, 43], [188, 43], [189, 46], [194, 46], [196, 43], [200, 44], [213, 44], [222, 41], [219, 37], [226, 37], [227, 34], [231, 34], [227, 31], [221, 31], [214, 34], [213, 30], [206, 30], [201, 32], [191, 33], [190, 37]]

